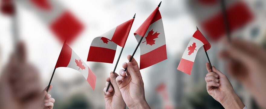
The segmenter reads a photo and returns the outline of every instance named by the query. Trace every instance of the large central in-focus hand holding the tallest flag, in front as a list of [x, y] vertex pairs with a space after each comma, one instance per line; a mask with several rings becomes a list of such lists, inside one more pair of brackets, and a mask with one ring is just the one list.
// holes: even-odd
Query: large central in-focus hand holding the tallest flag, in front
[[[127, 58], [130, 60], [131, 55], [128, 55]], [[128, 108], [150, 108], [145, 100], [144, 83], [138, 68], [137, 61], [132, 58], [131, 62], [123, 63], [122, 67], [127, 68], [127, 70], [126, 72], [123, 69], [119, 71], [120, 75], [116, 78], [116, 82]]]

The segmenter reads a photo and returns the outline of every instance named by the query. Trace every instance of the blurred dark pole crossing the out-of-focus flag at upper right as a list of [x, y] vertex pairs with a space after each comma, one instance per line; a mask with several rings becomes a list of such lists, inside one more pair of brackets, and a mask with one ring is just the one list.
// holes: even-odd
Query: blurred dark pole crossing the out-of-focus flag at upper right
[[226, 14], [225, 0], [220, 0], [220, 2], [221, 2], [221, 5], [222, 5], [222, 15], [223, 15], [224, 24], [225, 24], [226, 35], [227, 35], [228, 40], [230, 41], [231, 40], [231, 35], [230, 35], [228, 18], [227, 18], [227, 14]]

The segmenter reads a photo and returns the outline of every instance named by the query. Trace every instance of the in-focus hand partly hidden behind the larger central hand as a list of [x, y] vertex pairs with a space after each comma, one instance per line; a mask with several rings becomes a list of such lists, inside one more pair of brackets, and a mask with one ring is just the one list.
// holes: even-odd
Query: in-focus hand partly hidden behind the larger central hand
[[109, 81], [111, 81], [108, 91], [106, 92], [106, 87], [103, 89], [106, 109], [126, 108], [125, 101], [122, 98], [122, 94], [115, 80], [116, 77], [118, 77], [118, 74], [110, 72], [110, 77], [106, 78], [106, 87], [109, 84]]

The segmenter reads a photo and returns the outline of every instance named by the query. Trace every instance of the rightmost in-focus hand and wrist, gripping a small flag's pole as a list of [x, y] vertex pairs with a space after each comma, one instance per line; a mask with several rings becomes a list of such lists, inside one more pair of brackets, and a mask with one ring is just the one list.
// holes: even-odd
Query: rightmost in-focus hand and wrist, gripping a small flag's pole
[[206, 68], [209, 72], [205, 77], [209, 95], [221, 103], [225, 109], [243, 109], [245, 105], [235, 93], [228, 78], [214, 66], [212, 66], [212, 72], [209, 63], [206, 63]]

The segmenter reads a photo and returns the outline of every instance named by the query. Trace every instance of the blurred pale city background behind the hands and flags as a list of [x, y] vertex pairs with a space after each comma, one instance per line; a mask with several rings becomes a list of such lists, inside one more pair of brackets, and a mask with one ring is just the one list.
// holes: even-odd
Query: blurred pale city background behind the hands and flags
[[[87, 59], [92, 39], [109, 31], [111, 28], [131, 19], [136, 13], [124, 51], [116, 71], [128, 62], [126, 56], [132, 54], [137, 41], [133, 33], [142, 22], [153, 12], [160, 0], [57, 0], [65, 5], [83, 23], [85, 29], [70, 44], [70, 47], [82, 58]], [[141, 70], [144, 81], [145, 96], [151, 108], [182, 108], [182, 109], [219, 109], [223, 108], [206, 91], [205, 63], [208, 62], [204, 49], [196, 56], [191, 75], [177, 70], [183, 51], [196, 31], [196, 25], [201, 29], [200, 15], [207, 16], [209, 12], [197, 12], [194, 2], [204, 0], [162, 0], [160, 7], [167, 44], [167, 60]], [[215, 1], [215, 0], [211, 0]], [[253, 14], [253, 19], [237, 28], [232, 37], [253, 41], [265, 45], [266, 1], [244, 0]], [[218, 5], [217, 5], [218, 4]], [[213, 4], [208, 4], [213, 5]], [[27, 47], [28, 60], [37, 67], [41, 75], [42, 88], [50, 80], [57, 58], [62, 48], [55, 35], [44, 25], [32, 10], [18, 6], [18, 34]], [[200, 7], [204, 7], [201, 4]], [[219, 2], [216, 3], [220, 9]], [[208, 6], [207, 6], [208, 7]], [[209, 10], [212, 10], [209, 8]], [[217, 10], [216, 10], [217, 11]], [[219, 10], [218, 10], [219, 11]], [[244, 16], [243, 16], [244, 17]], [[203, 30], [203, 35], [209, 40], [212, 48], [208, 50], [212, 65], [227, 75], [224, 61], [218, 58], [222, 50], [221, 41], [210, 40]], [[4, 69], [14, 51], [12, 43], [12, 25], [9, 16], [0, 15], [0, 69]], [[96, 75], [96, 88], [93, 91], [83, 75], [71, 68], [57, 68], [52, 81], [53, 88], [49, 92], [56, 100], [54, 109], [102, 109], [105, 108], [103, 88], [109, 72], [113, 71], [121, 47], [118, 46], [113, 64], [86, 62]], [[139, 62], [140, 51], [134, 58]], [[248, 91], [233, 78], [229, 80], [234, 90], [249, 108], [257, 108]]]

